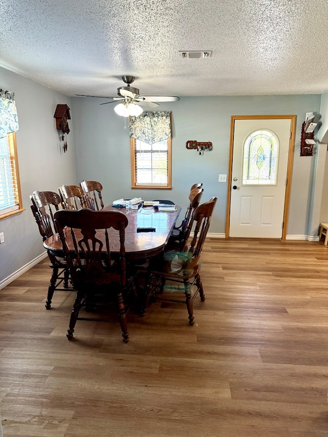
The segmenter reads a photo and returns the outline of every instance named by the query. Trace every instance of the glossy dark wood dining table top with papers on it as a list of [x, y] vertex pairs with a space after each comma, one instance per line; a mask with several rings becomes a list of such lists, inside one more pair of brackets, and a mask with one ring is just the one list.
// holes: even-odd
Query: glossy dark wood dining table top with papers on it
[[[126, 256], [130, 259], [145, 258], [159, 254], [166, 246], [176, 220], [180, 214], [181, 207], [176, 206], [176, 211], [155, 211], [152, 214], [143, 214], [147, 210], [126, 210], [115, 208], [112, 205], [106, 206], [106, 211], [121, 211], [128, 217], [129, 223], [125, 230]], [[154, 227], [156, 232], [137, 233], [137, 227]], [[111, 238], [111, 233], [113, 236]], [[119, 252], [119, 241], [114, 230], [110, 230], [111, 252]], [[97, 232], [99, 239], [103, 239], [104, 232]], [[68, 244], [70, 246], [70, 237]], [[63, 247], [58, 234], [49, 237], [44, 241], [44, 246], [53, 255], [63, 257]], [[104, 246], [105, 247], [105, 246]]]

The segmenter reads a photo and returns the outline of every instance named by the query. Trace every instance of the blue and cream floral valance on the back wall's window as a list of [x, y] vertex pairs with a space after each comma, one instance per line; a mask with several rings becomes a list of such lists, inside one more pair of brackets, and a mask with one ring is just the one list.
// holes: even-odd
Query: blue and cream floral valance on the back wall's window
[[143, 112], [131, 117], [129, 122], [130, 138], [153, 144], [171, 137], [171, 112]]

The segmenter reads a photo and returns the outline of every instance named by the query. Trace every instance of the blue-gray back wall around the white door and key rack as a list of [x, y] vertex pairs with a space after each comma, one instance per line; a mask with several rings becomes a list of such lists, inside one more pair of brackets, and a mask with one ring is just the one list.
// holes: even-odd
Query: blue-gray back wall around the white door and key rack
[[[203, 182], [202, 200], [212, 196], [218, 202], [211, 222], [211, 233], [222, 234], [226, 225], [227, 184], [218, 182], [227, 174], [229, 163], [230, 123], [232, 115], [297, 115], [290, 218], [287, 234], [308, 234], [310, 193], [314, 157], [300, 157], [301, 126], [306, 112], [318, 113], [320, 95], [182, 97], [174, 103], [161, 104], [172, 111], [172, 190], [132, 190], [130, 140], [124, 119], [113, 106], [99, 105], [106, 100], [72, 98], [76, 174], [78, 180], [101, 180], [105, 186], [105, 203], [121, 197], [172, 199], [187, 207], [187, 193], [194, 182]], [[212, 141], [213, 150], [199, 156], [186, 149], [187, 140]]]

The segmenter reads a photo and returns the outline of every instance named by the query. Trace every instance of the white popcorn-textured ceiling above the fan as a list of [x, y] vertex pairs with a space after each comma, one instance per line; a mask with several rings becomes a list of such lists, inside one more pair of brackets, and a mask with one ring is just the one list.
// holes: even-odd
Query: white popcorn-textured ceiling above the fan
[[0, 66], [67, 95], [116, 95], [122, 75], [144, 95], [328, 91], [327, 0], [3, 0], [0, 12]]

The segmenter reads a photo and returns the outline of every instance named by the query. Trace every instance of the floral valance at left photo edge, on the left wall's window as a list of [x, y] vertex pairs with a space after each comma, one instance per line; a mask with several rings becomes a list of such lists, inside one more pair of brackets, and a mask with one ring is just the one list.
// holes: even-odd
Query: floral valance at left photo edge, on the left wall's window
[[18, 129], [15, 94], [0, 89], [0, 138]]

